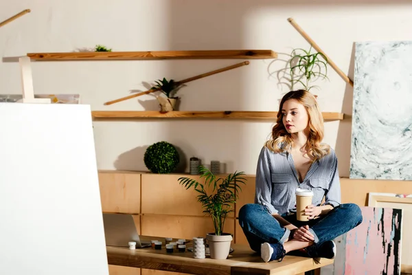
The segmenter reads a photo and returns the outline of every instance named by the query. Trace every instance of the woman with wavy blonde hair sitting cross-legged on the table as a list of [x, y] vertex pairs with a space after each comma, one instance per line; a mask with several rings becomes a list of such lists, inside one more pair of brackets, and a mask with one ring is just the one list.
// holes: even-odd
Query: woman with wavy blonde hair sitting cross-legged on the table
[[[295, 250], [334, 259], [332, 240], [362, 222], [356, 204], [341, 204], [338, 161], [322, 139], [323, 118], [314, 96], [305, 90], [288, 92], [279, 104], [272, 138], [259, 155], [255, 203], [239, 213], [251, 249], [265, 262], [282, 261]], [[297, 188], [314, 193], [305, 210], [309, 221], [296, 219]]]

